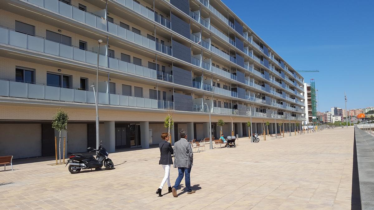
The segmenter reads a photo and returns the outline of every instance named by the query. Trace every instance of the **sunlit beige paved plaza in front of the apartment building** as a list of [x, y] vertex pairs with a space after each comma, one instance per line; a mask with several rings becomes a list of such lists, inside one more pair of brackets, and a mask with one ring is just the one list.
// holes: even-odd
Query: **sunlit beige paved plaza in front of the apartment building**
[[[70, 174], [52, 160], [0, 171], [0, 209], [351, 209], [353, 127], [194, 153], [191, 186], [157, 197], [158, 148], [110, 154], [115, 169]], [[2, 168], [3, 169], [3, 168]], [[10, 166], [7, 168], [10, 169]], [[174, 184], [177, 169], [170, 172]], [[353, 209], [355, 206], [352, 207]]]

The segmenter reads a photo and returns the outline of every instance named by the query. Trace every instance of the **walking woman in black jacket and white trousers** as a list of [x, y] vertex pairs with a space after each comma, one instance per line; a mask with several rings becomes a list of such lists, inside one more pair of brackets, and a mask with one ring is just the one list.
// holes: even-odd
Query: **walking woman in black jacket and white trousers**
[[165, 185], [166, 181], [168, 181], [169, 193], [171, 192], [170, 165], [173, 164], [173, 160], [171, 159], [171, 155], [173, 154], [173, 148], [171, 148], [171, 144], [169, 143], [169, 133], [162, 133], [161, 138], [162, 141], [159, 144], [161, 153], [159, 164], [162, 165], [162, 168], [165, 170], [165, 176], [162, 179], [159, 189], [157, 189], [156, 191], [156, 194], [159, 194], [159, 197], [162, 196], [161, 190]]

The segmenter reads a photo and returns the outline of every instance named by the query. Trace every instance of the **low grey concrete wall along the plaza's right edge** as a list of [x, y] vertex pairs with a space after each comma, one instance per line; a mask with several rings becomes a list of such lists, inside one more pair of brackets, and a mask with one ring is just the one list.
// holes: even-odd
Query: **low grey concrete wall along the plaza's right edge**
[[374, 209], [374, 137], [355, 126], [362, 209]]

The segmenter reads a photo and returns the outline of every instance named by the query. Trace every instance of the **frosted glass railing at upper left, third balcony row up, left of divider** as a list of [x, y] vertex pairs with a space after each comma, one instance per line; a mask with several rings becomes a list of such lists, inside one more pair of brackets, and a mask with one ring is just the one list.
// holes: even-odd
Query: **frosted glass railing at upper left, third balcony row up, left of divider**
[[77, 21], [84, 22], [92, 27], [101, 30], [107, 30], [107, 21], [104, 17], [100, 17], [91, 12], [82, 11], [78, 7], [64, 3], [59, 0], [27, 0], [30, 3], [36, 4], [45, 9], [59, 13], [60, 15], [73, 18]]

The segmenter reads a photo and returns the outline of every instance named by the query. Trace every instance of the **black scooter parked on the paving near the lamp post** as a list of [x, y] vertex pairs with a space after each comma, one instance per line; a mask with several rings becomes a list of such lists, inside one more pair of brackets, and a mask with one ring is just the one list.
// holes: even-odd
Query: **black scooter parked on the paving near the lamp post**
[[96, 158], [94, 158], [93, 155], [71, 154], [67, 164], [65, 165], [66, 167], [69, 164], [69, 172], [79, 173], [81, 169], [101, 170], [103, 164], [105, 166], [105, 169], [113, 169], [113, 161], [108, 158], [109, 153], [102, 146], [101, 142], [99, 143], [99, 149], [91, 147], [87, 148], [92, 149], [90, 152], [96, 151]]

